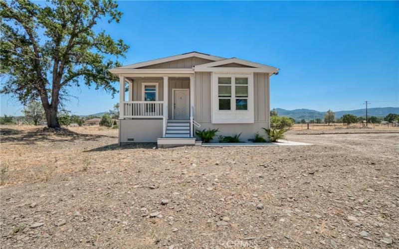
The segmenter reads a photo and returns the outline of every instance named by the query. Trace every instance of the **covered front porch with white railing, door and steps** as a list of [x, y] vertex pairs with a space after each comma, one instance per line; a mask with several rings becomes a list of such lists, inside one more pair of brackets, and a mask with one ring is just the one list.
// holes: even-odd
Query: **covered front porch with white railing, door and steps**
[[119, 91], [125, 93], [120, 94], [120, 120], [161, 120], [160, 137], [194, 137], [193, 73], [120, 74], [119, 79]]

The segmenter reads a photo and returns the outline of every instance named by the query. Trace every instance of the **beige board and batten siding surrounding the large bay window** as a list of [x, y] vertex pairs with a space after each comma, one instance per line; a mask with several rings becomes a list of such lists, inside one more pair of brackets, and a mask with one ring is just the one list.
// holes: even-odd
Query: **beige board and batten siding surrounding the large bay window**
[[240, 138], [247, 141], [256, 132], [264, 135], [262, 127], [269, 127], [270, 94], [269, 76], [266, 73], [253, 74], [254, 123], [253, 124], [212, 124], [211, 123], [211, 73], [196, 72], [195, 75], [194, 120], [204, 128], [219, 128], [219, 135], [232, 135], [242, 132]]

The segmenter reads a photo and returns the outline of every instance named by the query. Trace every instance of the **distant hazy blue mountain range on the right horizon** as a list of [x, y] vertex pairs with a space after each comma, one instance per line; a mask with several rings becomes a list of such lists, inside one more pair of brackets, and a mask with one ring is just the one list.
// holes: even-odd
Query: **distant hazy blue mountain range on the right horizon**
[[[285, 110], [281, 108], [276, 108], [276, 110], [279, 116], [286, 116], [289, 118], [293, 118], [296, 121], [300, 121], [302, 119], [313, 120], [317, 118], [319, 119], [324, 118], [324, 112], [319, 112], [316, 110], [310, 110], [310, 109]], [[399, 114], [399, 107], [377, 107], [377, 108], [367, 109], [367, 115], [369, 116], [385, 117], [390, 113]], [[366, 116], [366, 109], [338, 111], [335, 112], [335, 118], [341, 118], [344, 114], [352, 114], [355, 116]]]

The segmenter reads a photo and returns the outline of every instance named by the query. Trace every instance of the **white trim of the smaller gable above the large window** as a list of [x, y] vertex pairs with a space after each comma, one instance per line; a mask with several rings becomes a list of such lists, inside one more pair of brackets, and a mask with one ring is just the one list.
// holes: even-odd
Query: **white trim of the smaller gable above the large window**
[[[230, 63], [237, 63], [248, 67], [217, 67]], [[194, 66], [195, 72], [256, 72], [256, 73], [277, 73], [279, 69], [247, 60], [230, 58], [218, 60]]]

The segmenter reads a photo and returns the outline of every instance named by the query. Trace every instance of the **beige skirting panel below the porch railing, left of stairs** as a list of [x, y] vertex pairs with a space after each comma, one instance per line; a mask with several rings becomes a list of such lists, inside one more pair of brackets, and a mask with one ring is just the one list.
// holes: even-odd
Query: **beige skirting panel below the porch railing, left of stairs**
[[163, 135], [162, 122], [162, 119], [121, 120], [119, 125], [120, 142], [157, 142], [158, 137]]

